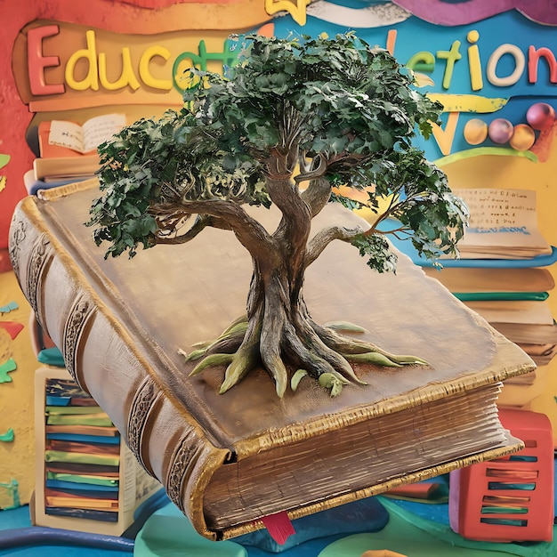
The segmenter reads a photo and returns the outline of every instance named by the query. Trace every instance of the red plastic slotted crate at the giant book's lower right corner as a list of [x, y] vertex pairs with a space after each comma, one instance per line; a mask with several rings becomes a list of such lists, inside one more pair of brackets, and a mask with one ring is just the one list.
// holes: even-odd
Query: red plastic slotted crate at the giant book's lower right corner
[[553, 540], [553, 434], [549, 418], [499, 410], [525, 448], [450, 473], [449, 521], [457, 534], [486, 542]]

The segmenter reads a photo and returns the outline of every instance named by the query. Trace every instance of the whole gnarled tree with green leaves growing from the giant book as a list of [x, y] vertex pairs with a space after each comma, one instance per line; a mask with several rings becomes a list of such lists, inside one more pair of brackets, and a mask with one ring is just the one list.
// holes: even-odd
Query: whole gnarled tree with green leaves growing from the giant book
[[[396, 267], [389, 233], [408, 236], [428, 258], [457, 254], [467, 209], [411, 144], [416, 132], [429, 136], [440, 105], [416, 92], [389, 52], [353, 34], [246, 36], [238, 46], [231, 77], [190, 69], [182, 110], [141, 119], [101, 145], [103, 194], [88, 222], [95, 242], [110, 242], [105, 257], [133, 256], [139, 245], [182, 244], [206, 227], [234, 233], [253, 261], [246, 315], [186, 355], [199, 360], [192, 374], [226, 366], [221, 392], [259, 366], [282, 397], [289, 376], [295, 389], [306, 374], [338, 394], [359, 382], [351, 361], [425, 364], [316, 323], [303, 278], [334, 240], [379, 272]], [[347, 187], [365, 197], [344, 197]], [[330, 201], [368, 206], [375, 223], [311, 237], [313, 217]], [[277, 206], [278, 228], [265, 230], [246, 204]]]

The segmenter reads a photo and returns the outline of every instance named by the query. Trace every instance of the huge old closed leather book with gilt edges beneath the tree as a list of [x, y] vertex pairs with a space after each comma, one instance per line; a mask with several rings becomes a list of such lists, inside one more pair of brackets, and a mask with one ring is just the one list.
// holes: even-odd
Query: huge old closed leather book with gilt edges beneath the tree
[[[535, 368], [529, 356], [406, 255], [380, 274], [343, 242], [306, 272], [312, 319], [356, 324], [363, 332], [347, 335], [428, 365], [354, 364], [367, 384], [331, 397], [306, 377], [282, 399], [261, 369], [219, 394], [223, 367], [191, 377], [181, 351], [245, 313], [249, 255], [211, 229], [105, 260], [84, 226], [99, 195], [90, 181], [23, 199], [12, 264], [69, 372], [202, 535], [238, 536], [273, 513], [295, 519], [522, 448], [496, 400], [502, 381]], [[337, 204], [321, 219], [362, 223]]]

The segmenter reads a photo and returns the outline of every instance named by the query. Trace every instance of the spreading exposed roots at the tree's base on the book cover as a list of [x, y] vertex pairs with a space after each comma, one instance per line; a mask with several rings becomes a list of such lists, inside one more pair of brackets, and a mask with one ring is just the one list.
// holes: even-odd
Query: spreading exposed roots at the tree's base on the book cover
[[[197, 343], [190, 354], [181, 351], [187, 360], [200, 360], [190, 375], [198, 375], [207, 367], [226, 366], [219, 390], [223, 393], [250, 370], [262, 366], [273, 378], [278, 397], [284, 396], [289, 382], [295, 391], [305, 375], [336, 396], [349, 383], [366, 384], [356, 375], [351, 362], [383, 367], [427, 365], [416, 356], [392, 354], [373, 343], [340, 335], [332, 327], [315, 323], [305, 311], [298, 311], [290, 319], [280, 309], [282, 304], [267, 300], [265, 307], [273, 311], [262, 307], [251, 319], [245, 315], [235, 320], [213, 341]], [[346, 325], [348, 330], [362, 330]]]

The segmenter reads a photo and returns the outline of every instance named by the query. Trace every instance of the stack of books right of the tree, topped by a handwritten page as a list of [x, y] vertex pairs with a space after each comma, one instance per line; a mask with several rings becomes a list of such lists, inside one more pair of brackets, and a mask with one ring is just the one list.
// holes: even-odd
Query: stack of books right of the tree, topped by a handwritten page
[[465, 305], [537, 363], [538, 369], [508, 383], [533, 384], [540, 367], [557, 353], [557, 324], [548, 298], [557, 262], [537, 224], [535, 190], [454, 190], [471, 212], [460, 242], [460, 259], [441, 259], [442, 268], [420, 257], [408, 241], [395, 245]]

